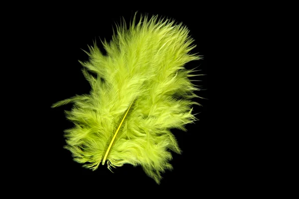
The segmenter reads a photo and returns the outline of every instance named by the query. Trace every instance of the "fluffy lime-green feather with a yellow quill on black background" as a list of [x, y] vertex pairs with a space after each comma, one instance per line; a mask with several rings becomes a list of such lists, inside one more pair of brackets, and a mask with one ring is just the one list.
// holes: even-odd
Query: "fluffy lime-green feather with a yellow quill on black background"
[[[96, 170], [124, 164], [140, 165], [157, 184], [161, 173], [172, 169], [171, 151], [180, 154], [170, 129], [186, 131], [196, 120], [192, 105], [199, 89], [191, 83], [193, 70], [184, 65], [201, 56], [189, 30], [174, 20], [147, 15], [139, 22], [136, 14], [127, 28], [117, 26], [110, 42], [102, 41], [107, 52], [89, 47], [89, 60], [80, 62], [91, 85], [89, 94], [52, 105], [72, 102], [65, 111], [74, 127], [65, 130], [66, 149], [74, 161]], [[96, 74], [96, 77], [91, 75]]]

